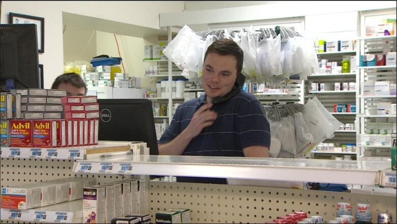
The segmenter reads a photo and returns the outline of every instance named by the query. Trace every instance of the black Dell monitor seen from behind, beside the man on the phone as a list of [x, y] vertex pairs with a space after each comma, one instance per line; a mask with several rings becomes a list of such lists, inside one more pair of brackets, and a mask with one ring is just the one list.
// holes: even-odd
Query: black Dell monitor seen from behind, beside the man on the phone
[[150, 99], [98, 99], [99, 140], [143, 141], [158, 155], [156, 128]]

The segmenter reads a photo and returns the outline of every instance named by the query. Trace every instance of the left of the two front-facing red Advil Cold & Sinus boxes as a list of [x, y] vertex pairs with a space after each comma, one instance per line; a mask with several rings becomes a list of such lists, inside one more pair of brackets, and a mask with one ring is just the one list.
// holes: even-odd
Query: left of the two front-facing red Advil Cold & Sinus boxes
[[10, 121], [10, 146], [32, 147], [32, 121], [11, 120]]

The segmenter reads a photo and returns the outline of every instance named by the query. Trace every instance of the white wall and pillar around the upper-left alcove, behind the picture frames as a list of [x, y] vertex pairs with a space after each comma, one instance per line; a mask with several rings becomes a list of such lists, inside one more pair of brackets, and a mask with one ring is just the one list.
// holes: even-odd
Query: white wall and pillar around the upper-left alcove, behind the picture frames
[[159, 14], [182, 12], [182, 1], [2, 1], [0, 23], [8, 23], [8, 13], [44, 17], [44, 88], [62, 74], [64, 65], [62, 12], [159, 29]]

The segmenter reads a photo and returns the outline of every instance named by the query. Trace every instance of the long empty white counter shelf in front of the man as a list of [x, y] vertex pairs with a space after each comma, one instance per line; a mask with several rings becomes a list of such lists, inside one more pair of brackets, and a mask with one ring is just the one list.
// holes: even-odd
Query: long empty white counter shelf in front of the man
[[296, 158], [219, 156], [128, 155], [75, 161], [76, 174], [99, 174], [101, 163], [112, 163], [111, 174], [126, 174], [121, 163], [130, 163], [127, 174], [191, 176], [257, 180], [290, 180], [375, 185], [379, 171], [390, 162], [335, 161]]

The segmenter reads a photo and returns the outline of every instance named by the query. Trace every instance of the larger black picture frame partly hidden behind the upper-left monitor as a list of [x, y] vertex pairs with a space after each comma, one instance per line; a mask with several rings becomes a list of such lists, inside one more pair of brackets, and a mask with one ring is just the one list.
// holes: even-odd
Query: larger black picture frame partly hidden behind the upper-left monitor
[[39, 53], [44, 53], [44, 18], [10, 12], [8, 23], [33, 23], [37, 26], [37, 48]]

